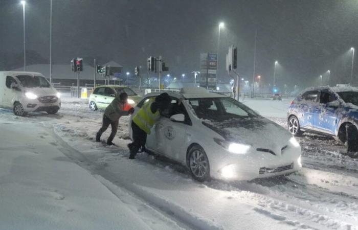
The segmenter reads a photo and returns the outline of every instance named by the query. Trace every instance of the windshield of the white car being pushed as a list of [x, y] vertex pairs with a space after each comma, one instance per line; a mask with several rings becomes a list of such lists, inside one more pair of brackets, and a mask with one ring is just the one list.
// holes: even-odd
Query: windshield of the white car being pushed
[[189, 104], [198, 118], [213, 122], [258, 117], [252, 109], [232, 98], [195, 98], [189, 99]]

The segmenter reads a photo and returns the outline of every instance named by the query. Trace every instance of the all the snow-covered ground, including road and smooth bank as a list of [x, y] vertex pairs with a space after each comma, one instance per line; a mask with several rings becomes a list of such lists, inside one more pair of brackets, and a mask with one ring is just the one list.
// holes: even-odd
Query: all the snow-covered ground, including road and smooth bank
[[[244, 103], [286, 126], [289, 99]], [[51, 116], [0, 110], [0, 228], [358, 229], [358, 160], [333, 139], [301, 137], [297, 174], [198, 183], [161, 157], [129, 160], [129, 117], [117, 146], [96, 143], [102, 115], [70, 99]]]

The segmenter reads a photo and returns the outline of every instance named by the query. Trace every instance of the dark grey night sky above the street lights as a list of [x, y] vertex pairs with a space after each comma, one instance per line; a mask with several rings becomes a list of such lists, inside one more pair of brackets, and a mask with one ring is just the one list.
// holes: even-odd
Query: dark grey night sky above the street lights
[[[21, 53], [22, 6], [0, 3], [0, 52]], [[238, 72], [252, 81], [257, 30], [256, 75], [263, 82], [272, 82], [275, 60], [279, 85], [307, 86], [327, 70], [342, 82], [350, 77], [349, 49], [358, 48], [357, 13], [356, 0], [53, 0], [53, 63], [94, 57], [133, 72], [150, 55], [162, 55], [171, 75], [191, 75], [200, 53], [216, 53], [223, 21], [219, 76], [225, 81], [231, 44], [238, 47]], [[26, 17], [27, 49], [49, 58], [50, 0], [28, 0]]]

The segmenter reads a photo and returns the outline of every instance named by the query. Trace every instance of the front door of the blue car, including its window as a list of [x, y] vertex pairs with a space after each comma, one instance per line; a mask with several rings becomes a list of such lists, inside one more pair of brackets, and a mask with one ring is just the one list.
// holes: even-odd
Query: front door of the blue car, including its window
[[333, 135], [338, 122], [336, 111], [339, 109], [339, 104], [331, 104], [335, 100], [337, 98], [329, 91], [322, 90], [320, 93], [320, 106], [314, 111], [315, 128]]

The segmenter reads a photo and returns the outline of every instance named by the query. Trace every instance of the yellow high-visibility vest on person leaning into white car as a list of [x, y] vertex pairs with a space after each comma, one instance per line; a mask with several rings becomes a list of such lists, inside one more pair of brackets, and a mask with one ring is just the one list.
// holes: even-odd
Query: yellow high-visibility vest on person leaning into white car
[[154, 98], [149, 99], [145, 102], [138, 113], [133, 117], [132, 122], [136, 123], [143, 131], [150, 134], [150, 129], [154, 123], [160, 118], [160, 113], [157, 110], [152, 113], [150, 106], [154, 102]]

